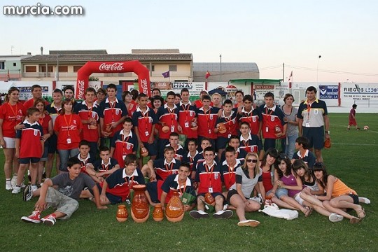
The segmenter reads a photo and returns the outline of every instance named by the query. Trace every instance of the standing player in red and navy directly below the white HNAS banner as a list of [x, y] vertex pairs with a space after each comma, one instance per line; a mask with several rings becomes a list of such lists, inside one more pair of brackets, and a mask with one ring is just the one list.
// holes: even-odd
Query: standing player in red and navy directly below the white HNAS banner
[[183, 88], [181, 90], [182, 100], [179, 104], [179, 123], [183, 129], [179, 133], [186, 136], [186, 141], [184, 143], [186, 151], [188, 151], [186, 148], [186, 146], [188, 146], [188, 139], [197, 138], [197, 130], [192, 130], [191, 127], [193, 121], [197, 123], [197, 113], [195, 112], [197, 109], [190, 104], [189, 97], [188, 88]]

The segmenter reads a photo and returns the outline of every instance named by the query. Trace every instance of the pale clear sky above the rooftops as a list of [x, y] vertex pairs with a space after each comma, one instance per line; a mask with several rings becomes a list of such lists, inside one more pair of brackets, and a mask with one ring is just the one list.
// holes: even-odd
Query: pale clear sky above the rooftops
[[[0, 55], [179, 49], [193, 62], [255, 62], [260, 78], [378, 83], [378, 1], [1, 0], [82, 6], [84, 15], [0, 13]], [[321, 56], [321, 57], [319, 57]], [[283, 68], [283, 64], [285, 67]]]

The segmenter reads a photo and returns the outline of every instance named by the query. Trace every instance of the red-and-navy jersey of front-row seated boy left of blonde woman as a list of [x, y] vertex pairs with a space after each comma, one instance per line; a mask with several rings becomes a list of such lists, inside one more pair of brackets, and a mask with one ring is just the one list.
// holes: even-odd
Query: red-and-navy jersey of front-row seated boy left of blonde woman
[[213, 162], [211, 166], [208, 166], [205, 162], [199, 163], [195, 181], [200, 182], [198, 194], [208, 193], [209, 190], [212, 190], [213, 193], [222, 193], [221, 170], [216, 162]]

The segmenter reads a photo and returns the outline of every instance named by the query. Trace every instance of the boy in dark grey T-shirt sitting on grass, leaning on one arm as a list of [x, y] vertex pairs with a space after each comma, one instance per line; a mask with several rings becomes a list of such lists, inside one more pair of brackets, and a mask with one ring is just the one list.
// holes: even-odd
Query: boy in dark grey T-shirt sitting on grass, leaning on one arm
[[[99, 189], [90, 176], [80, 173], [81, 163], [78, 158], [70, 158], [67, 162], [68, 172], [64, 172], [52, 179], [46, 179], [38, 190], [24, 194], [24, 200], [30, 200], [33, 196], [39, 196], [35, 209], [30, 216], [23, 216], [22, 221], [27, 223], [41, 223], [54, 225], [57, 218], [66, 220], [78, 209], [78, 199], [85, 186], [92, 188], [97, 209], [106, 209], [100, 204]], [[56, 189], [55, 189], [56, 188]], [[55, 212], [41, 218], [41, 212], [49, 207], [55, 208]]]

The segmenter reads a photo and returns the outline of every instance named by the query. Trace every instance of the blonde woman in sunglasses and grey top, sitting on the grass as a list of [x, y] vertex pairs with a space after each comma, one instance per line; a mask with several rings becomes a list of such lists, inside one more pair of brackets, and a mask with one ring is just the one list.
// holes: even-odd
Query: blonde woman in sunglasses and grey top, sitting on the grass
[[258, 155], [256, 153], [248, 153], [244, 159], [244, 164], [237, 167], [235, 172], [236, 183], [234, 183], [228, 192], [225, 193], [228, 204], [236, 208], [237, 217], [239, 218], [239, 226], [256, 227], [260, 224], [258, 221], [247, 220], [245, 212], [258, 211], [260, 204], [254, 200], [249, 200], [253, 188], [258, 182], [262, 170]]

